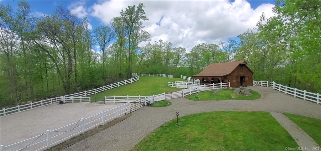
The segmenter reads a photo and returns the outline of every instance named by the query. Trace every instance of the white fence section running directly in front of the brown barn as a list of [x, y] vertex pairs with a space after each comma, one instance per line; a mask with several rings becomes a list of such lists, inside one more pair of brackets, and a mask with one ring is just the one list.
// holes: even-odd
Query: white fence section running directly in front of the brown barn
[[191, 88], [183, 89], [183, 97], [194, 93], [202, 92], [202, 91], [219, 89], [224, 87], [230, 87], [230, 82], [207, 84], [207, 85], [193, 85]]

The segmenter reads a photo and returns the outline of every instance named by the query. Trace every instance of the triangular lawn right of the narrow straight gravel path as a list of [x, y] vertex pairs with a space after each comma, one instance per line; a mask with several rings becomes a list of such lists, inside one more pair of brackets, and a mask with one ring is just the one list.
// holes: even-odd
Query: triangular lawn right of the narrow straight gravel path
[[289, 119], [304, 130], [316, 143], [321, 146], [321, 120], [306, 116], [284, 113]]

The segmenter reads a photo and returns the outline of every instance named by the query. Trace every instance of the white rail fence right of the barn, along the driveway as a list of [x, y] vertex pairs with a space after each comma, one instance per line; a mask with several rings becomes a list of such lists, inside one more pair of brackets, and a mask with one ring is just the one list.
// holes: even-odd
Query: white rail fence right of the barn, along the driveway
[[307, 92], [306, 90], [299, 90], [297, 88], [291, 88], [288, 86], [283, 86], [282, 84], [277, 84], [274, 81], [253, 81], [253, 86], [266, 86], [272, 87], [275, 90], [289, 94], [294, 97], [299, 97], [304, 100], [309, 100], [317, 104], [321, 104], [321, 95], [319, 93]]

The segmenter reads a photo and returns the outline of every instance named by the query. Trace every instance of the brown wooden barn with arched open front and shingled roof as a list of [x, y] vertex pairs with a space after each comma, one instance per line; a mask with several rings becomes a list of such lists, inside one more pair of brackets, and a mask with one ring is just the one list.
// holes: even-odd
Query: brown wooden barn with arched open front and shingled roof
[[211, 63], [203, 71], [193, 76], [200, 84], [230, 82], [231, 87], [253, 86], [253, 71], [245, 61]]

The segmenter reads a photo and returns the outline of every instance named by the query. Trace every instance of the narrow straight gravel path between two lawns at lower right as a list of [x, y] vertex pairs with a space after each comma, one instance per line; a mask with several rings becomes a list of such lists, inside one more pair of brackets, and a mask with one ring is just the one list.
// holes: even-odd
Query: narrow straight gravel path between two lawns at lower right
[[[297, 124], [292, 122], [288, 117], [282, 113], [271, 113], [272, 116], [289, 132], [292, 138], [298, 143], [304, 150], [311, 150], [313, 147], [319, 147], [319, 145]], [[309, 148], [309, 149], [307, 149]]]

